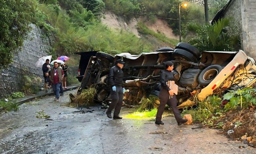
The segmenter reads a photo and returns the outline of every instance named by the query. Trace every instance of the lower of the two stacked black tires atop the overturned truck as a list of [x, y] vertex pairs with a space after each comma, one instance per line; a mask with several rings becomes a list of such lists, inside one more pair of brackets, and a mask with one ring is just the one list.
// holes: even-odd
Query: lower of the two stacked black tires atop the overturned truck
[[197, 63], [197, 58], [192, 53], [183, 49], [175, 49], [172, 52], [172, 58], [178, 58], [178, 57], [184, 58], [190, 62]]

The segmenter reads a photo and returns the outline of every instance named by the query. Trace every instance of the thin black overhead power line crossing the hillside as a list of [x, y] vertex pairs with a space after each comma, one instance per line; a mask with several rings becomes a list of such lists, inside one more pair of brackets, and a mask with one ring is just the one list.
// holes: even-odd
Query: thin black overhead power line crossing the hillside
[[[141, 15], [141, 16], [147, 16], [147, 17], [153, 17], [153, 18], [160, 18], [160, 19], [177, 20], [177, 21], [179, 21], [179, 19], [163, 18], [163, 17], [157, 17], [157, 16], [148, 15], [148, 14], [140, 14], [140, 13], [134, 13], [134, 12], [123, 11], [123, 10], [117, 10], [117, 9], [112, 9], [112, 8], [107, 8], [107, 7], [102, 7], [102, 6], [98, 6], [98, 5], [86, 3], [86, 2], [79, 2], [79, 1], [76, 1], [76, 0], [70, 0], [70, 1], [78, 2], [78, 3], [82, 3], [82, 4], [88, 4], [88, 5], [92, 5], [92, 6], [96, 6], [96, 7], [100, 7], [100, 8], [104, 8], [104, 9], [109, 9], [109, 10], [116, 10], [116, 11], [120, 11], [120, 12], [125, 12], [125, 13], [131, 13], [131, 14]], [[195, 20], [181, 20], [181, 21], [203, 22], [203, 23], [206, 22], [206, 21], [195, 21]]]

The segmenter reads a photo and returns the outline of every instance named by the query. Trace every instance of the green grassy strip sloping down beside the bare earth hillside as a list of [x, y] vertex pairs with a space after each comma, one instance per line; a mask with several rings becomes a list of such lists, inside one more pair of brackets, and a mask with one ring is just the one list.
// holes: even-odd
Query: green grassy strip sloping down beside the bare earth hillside
[[171, 47], [175, 47], [179, 43], [179, 40], [170, 39], [162, 33], [156, 33], [153, 30], [148, 29], [148, 27], [141, 21], [138, 22], [137, 29], [138, 29], [139, 33], [145, 34], [145, 35], [152, 35], [152, 36], [156, 37], [158, 40], [160, 40], [164, 43], [168, 43]]

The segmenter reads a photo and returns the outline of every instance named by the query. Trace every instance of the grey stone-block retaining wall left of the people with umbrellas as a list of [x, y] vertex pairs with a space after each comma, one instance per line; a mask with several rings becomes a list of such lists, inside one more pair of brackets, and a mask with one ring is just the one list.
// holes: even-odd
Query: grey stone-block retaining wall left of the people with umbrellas
[[11, 92], [20, 91], [23, 75], [35, 74], [43, 78], [41, 67], [35, 67], [36, 61], [47, 55], [47, 51], [51, 50], [51, 43], [44, 32], [32, 26], [30, 39], [24, 41], [22, 50], [14, 56], [13, 63], [8, 69], [0, 71], [0, 98]]

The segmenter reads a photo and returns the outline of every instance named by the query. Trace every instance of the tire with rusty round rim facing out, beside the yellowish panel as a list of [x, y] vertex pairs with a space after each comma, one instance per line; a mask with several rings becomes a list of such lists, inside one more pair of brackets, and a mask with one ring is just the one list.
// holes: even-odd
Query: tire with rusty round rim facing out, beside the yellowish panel
[[220, 73], [222, 66], [211, 65], [206, 67], [198, 76], [198, 82], [201, 86], [206, 87]]

